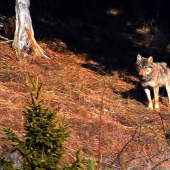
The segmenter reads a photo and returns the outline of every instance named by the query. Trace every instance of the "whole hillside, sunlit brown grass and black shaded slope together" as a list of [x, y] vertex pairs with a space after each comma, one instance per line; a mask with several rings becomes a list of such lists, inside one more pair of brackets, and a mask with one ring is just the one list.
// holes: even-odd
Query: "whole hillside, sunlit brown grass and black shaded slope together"
[[[124, 0], [41, 1], [31, 1], [33, 28], [51, 60], [19, 56], [0, 42], [0, 127], [22, 138], [29, 72], [44, 83], [42, 98], [57, 119], [69, 124], [62, 162], [73, 161], [79, 148], [83, 158], [98, 159], [101, 149], [102, 169], [169, 169], [166, 90], [160, 90], [161, 111], [147, 110], [134, 66], [138, 53], [169, 64], [169, 4], [158, 0], [153, 8], [144, 1], [138, 10]], [[13, 6], [6, 12], [2, 4], [4, 15], [12, 15]], [[0, 140], [4, 145], [10, 143]]]

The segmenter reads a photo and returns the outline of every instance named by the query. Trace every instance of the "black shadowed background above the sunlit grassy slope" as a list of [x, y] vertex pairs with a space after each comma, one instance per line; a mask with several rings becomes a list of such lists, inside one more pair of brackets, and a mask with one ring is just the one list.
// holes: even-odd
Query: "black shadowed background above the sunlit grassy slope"
[[[98, 62], [107, 73], [119, 69], [135, 74], [138, 53], [170, 63], [168, 0], [31, 0], [30, 3], [37, 40], [59, 39], [72, 52], [86, 53], [86, 60]], [[109, 14], [108, 10], [118, 14]], [[0, 14], [7, 18], [15, 16], [15, 0], [1, 1]], [[142, 27], [150, 29], [148, 35], [136, 31]], [[84, 67], [95, 69], [89, 64]]]

